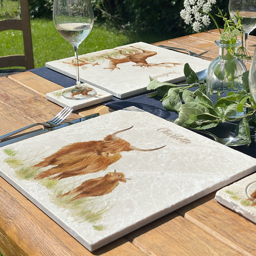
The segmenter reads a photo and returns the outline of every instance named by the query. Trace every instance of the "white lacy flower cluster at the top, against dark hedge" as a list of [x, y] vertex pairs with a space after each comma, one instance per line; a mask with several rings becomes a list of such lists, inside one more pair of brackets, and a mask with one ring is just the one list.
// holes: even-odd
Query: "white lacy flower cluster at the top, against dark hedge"
[[182, 17], [186, 24], [192, 24], [193, 30], [198, 32], [202, 28], [202, 24], [209, 25], [210, 17], [208, 13], [216, 0], [184, 0], [185, 9], [181, 10]]

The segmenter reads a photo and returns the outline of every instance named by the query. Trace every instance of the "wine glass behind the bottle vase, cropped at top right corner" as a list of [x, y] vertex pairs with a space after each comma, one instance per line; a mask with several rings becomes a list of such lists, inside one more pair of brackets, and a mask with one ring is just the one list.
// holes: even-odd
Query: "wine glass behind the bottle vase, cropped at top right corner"
[[241, 23], [245, 39], [244, 47], [247, 50], [249, 33], [256, 28], [256, 2], [255, 0], [229, 0], [228, 10], [230, 17], [237, 15], [238, 11], [239, 16], [243, 18]]

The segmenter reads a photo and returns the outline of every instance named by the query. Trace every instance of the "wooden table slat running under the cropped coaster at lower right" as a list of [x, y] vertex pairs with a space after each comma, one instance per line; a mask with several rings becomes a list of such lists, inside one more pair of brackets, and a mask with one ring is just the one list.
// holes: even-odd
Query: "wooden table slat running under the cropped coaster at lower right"
[[244, 255], [255, 255], [252, 253], [256, 252], [255, 224], [223, 207], [215, 199], [200, 205], [193, 202], [177, 212]]

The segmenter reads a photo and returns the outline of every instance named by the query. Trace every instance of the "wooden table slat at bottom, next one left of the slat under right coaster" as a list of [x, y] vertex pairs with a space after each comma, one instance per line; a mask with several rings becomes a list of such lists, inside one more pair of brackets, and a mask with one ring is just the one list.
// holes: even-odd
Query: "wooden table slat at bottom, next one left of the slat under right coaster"
[[243, 255], [175, 213], [155, 223], [159, 226], [154, 229], [146, 225], [125, 237], [149, 255]]

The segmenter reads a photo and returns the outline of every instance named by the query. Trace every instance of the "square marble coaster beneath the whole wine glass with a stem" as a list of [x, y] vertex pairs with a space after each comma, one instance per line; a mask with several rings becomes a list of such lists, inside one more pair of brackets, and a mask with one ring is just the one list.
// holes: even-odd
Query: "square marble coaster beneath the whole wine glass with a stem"
[[83, 83], [83, 85], [93, 88], [96, 91], [96, 95], [86, 100], [69, 100], [62, 96], [62, 92], [68, 89], [68, 88], [63, 88], [58, 91], [46, 93], [45, 98], [62, 107], [71, 106], [73, 110], [82, 109], [91, 105], [95, 105], [101, 102], [111, 100], [113, 98], [112, 94], [106, 91], [103, 91], [99, 88], [95, 88], [90, 84]]

